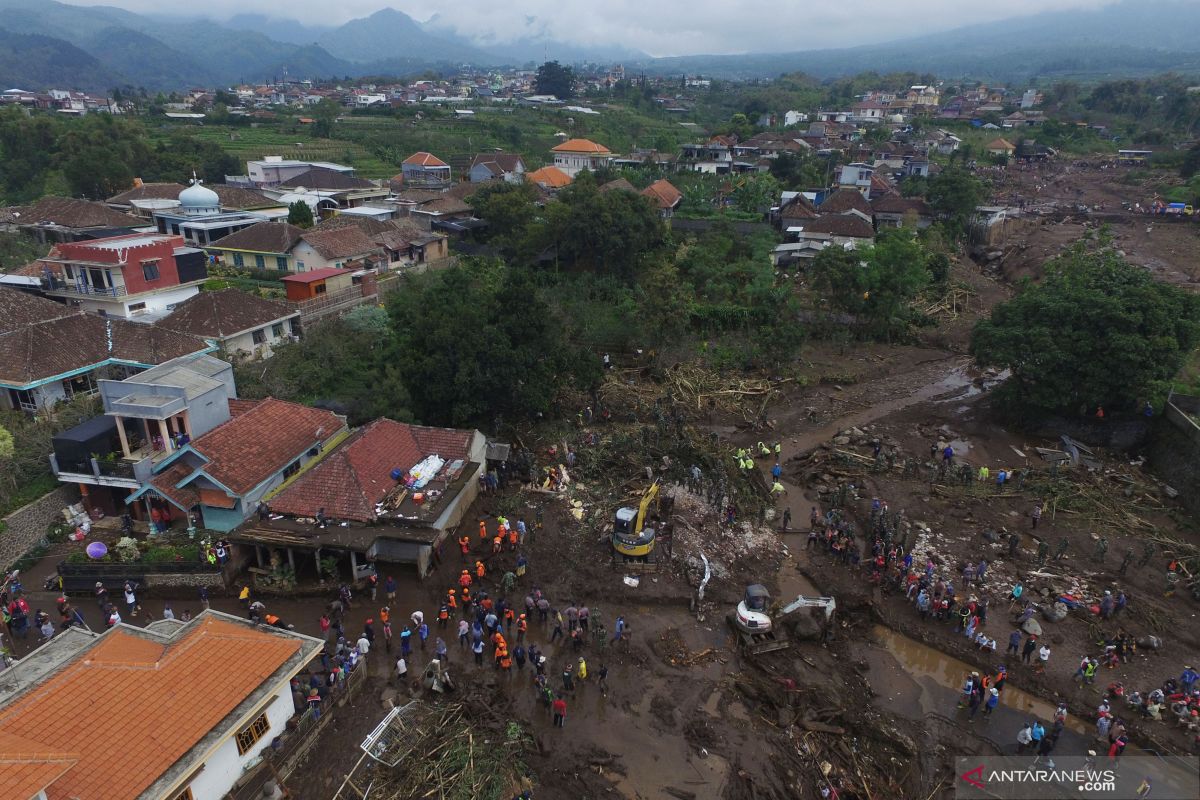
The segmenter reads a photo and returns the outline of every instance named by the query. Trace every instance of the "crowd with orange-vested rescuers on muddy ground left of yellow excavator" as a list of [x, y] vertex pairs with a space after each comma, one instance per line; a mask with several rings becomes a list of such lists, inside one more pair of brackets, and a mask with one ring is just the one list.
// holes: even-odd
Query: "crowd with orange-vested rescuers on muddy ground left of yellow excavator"
[[[361, 631], [347, 628], [347, 613], [356, 603], [376, 608], [380, 602], [379, 578], [376, 575], [367, 578], [366, 588], [359, 590], [365, 597], [355, 599], [349, 585], [340, 587], [337, 599], [319, 620], [326, 640], [320, 656], [322, 672], [314, 672], [307, 686], [298, 681], [293, 687], [298, 710], [308, 705], [319, 714], [325, 694], [336, 691], [368, 661], [376, 661], [380, 650], [388, 654], [383, 657], [389, 662], [389, 679], [409, 691], [420, 685], [416, 676], [433, 673], [444, 688], [452, 691], [451, 663], [461, 664], [458, 673], [493, 669], [504, 681], [528, 674], [536, 700], [557, 727], [565, 726], [568, 700], [582, 687], [594, 682], [607, 694], [608, 668], [604, 662], [593, 667], [589, 658], [614, 644], [628, 646], [631, 628], [618, 616], [610, 637], [599, 609], [576, 601], [552, 602], [539, 585], [527, 583], [529, 565], [524, 546], [541, 524], [540, 513], [532, 525], [523, 518], [509, 521], [504, 516], [497, 517], [492, 525], [480, 519], [478, 539], [464, 535], [457, 540], [463, 566], [455, 585], [440, 595], [437, 612], [431, 616], [420, 609], [412, 612], [402, 622], [395, 622], [395, 633], [394, 578], [383, 581], [385, 600], [377, 612], [368, 612]], [[523, 603], [517, 600], [522, 590]], [[260, 603], [251, 601], [248, 595], [242, 600], [251, 619], [272, 624]], [[560, 668], [552, 669], [551, 658]]]

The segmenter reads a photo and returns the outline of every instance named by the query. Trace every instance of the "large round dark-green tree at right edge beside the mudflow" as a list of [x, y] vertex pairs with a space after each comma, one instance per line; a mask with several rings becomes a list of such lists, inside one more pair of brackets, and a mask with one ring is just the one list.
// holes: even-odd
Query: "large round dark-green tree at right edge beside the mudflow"
[[1156, 281], [1104, 240], [1076, 243], [1045, 270], [971, 336], [980, 366], [1012, 371], [1009, 405], [1136, 409], [1164, 395], [1200, 341], [1200, 296]]

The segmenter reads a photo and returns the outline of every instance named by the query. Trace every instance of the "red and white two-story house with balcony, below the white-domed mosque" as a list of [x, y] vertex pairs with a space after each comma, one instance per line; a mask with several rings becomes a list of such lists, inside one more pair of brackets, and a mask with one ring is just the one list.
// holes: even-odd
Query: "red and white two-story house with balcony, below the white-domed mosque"
[[145, 321], [194, 296], [209, 277], [203, 249], [163, 234], [65, 242], [38, 264], [47, 295], [104, 317]]

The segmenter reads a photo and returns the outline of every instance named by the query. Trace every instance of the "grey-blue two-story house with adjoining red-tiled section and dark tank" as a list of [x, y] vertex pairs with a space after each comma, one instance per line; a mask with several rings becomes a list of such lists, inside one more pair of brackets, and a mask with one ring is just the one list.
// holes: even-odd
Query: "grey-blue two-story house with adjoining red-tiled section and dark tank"
[[55, 437], [50, 467], [107, 513], [232, 530], [347, 433], [332, 411], [238, 399], [233, 367], [208, 355], [98, 385], [103, 417]]

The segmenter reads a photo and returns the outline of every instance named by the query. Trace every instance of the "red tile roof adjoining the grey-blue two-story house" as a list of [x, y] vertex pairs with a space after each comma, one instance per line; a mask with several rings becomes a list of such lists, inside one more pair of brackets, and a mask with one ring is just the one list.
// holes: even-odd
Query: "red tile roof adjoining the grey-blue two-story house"
[[192, 447], [209, 459], [205, 475], [246, 494], [344, 427], [332, 411], [268, 397], [196, 439]]

